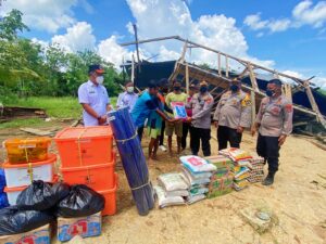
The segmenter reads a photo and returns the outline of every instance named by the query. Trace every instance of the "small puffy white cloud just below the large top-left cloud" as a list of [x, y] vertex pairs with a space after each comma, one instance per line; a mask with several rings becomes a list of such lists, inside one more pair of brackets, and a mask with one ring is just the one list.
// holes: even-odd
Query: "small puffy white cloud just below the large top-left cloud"
[[57, 43], [67, 52], [77, 52], [93, 50], [96, 37], [92, 34], [92, 27], [86, 22], [78, 22], [66, 29], [64, 35], [55, 35], [52, 43]]

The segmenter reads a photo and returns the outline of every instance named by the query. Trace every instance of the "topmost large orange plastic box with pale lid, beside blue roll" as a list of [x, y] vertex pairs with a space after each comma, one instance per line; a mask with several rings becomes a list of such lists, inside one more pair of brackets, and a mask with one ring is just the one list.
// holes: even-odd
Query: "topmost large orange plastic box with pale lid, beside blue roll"
[[63, 168], [112, 160], [113, 133], [110, 126], [66, 128], [57, 133], [54, 141]]

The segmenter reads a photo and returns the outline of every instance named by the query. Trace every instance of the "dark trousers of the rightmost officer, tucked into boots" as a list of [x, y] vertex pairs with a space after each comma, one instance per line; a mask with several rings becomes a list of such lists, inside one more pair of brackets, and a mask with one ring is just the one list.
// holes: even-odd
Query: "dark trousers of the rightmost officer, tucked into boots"
[[278, 170], [279, 149], [278, 137], [264, 137], [259, 134], [256, 153], [267, 162], [268, 172], [275, 174]]

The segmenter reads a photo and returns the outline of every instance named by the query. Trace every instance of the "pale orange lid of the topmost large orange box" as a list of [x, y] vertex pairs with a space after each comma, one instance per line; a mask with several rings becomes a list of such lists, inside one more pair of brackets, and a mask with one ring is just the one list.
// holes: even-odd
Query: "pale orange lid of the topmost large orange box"
[[78, 138], [108, 138], [112, 137], [111, 126], [68, 127], [59, 131], [55, 141]]

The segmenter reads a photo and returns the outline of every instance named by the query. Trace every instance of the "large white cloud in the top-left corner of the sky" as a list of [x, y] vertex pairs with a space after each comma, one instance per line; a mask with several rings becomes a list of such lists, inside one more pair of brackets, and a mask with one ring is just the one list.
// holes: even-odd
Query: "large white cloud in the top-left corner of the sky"
[[8, 0], [2, 3], [0, 15], [17, 9], [24, 13], [24, 23], [36, 29], [57, 33], [75, 23], [72, 7], [77, 0]]

